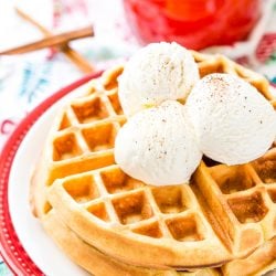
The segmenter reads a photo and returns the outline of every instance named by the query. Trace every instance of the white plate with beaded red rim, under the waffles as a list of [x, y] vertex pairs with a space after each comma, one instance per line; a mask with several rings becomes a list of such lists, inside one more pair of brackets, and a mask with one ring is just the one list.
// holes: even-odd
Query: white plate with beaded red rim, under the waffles
[[17, 127], [1, 152], [0, 254], [15, 275], [87, 275], [56, 247], [32, 215], [29, 185], [59, 106], [99, 75], [87, 75], [40, 104]]

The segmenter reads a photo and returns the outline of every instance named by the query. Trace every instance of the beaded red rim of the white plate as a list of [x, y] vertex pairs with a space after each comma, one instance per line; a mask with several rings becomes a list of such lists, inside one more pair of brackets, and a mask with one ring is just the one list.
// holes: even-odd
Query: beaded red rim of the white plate
[[9, 211], [9, 179], [17, 151], [33, 124], [59, 99], [88, 81], [100, 76], [102, 72], [88, 74], [59, 89], [40, 103], [17, 126], [0, 152], [0, 255], [15, 275], [44, 275], [31, 259], [15, 233]]

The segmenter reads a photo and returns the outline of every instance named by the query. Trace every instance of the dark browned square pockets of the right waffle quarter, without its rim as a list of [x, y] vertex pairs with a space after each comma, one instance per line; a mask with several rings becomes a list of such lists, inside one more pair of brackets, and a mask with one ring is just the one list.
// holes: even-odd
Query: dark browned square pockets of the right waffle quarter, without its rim
[[[240, 223], [261, 222], [269, 210], [270, 212], [275, 211], [276, 178], [272, 179], [269, 177], [268, 181], [266, 179], [262, 180], [262, 174], [257, 173], [259, 171], [257, 163], [231, 168], [220, 167], [221, 171], [219, 173], [215, 173], [219, 168], [213, 168], [211, 174], [214, 171], [213, 177], [216, 179], [217, 188], [225, 197], [225, 201]], [[223, 173], [222, 167], [230, 170], [226, 178], [217, 176]], [[269, 176], [276, 171], [276, 160], [274, 160], [274, 167], [270, 170]], [[259, 172], [262, 173], [262, 171]], [[236, 198], [238, 198], [238, 201], [235, 201]], [[246, 205], [247, 209], [243, 209], [242, 205]]]

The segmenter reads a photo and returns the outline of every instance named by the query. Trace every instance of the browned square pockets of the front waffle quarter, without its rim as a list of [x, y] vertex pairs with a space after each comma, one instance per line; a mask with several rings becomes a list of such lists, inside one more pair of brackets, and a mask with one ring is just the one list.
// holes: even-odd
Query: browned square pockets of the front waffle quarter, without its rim
[[65, 180], [63, 188], [108, 224], [156, 238], [204, 240], [206, 225], [189, 185], [146, 187], [115, 164]]

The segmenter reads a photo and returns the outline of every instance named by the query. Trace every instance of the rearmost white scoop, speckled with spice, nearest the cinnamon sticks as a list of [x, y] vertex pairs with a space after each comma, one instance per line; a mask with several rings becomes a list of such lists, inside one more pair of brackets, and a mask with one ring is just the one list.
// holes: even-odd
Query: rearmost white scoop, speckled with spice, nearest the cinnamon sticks
[[125, 115], [153, 107], [167, 99], [185, 99], [199, 81], [192, 54], [177, 43], [151, 43], [127, 62], [118, 81]]

